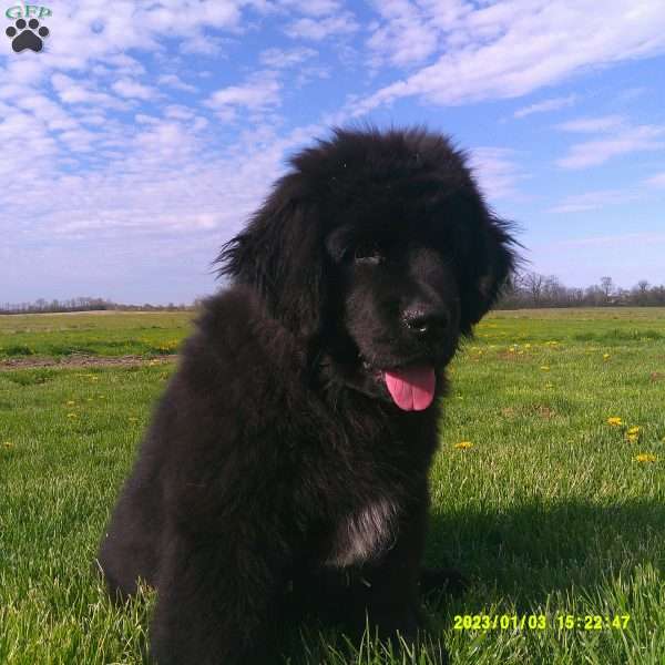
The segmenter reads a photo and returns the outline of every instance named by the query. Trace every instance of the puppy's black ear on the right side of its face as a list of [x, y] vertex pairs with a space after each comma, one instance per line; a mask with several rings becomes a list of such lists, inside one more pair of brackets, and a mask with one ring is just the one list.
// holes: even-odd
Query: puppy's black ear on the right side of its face
[[495, 304], [516, 262], [513, 248], [518, 243], [510, 235], [508, 223], [489, 217], [479, 241], [480, 260], [468, 275], [461, 294], [461, 330], [464, 335], [469, 335], [473, 325]]

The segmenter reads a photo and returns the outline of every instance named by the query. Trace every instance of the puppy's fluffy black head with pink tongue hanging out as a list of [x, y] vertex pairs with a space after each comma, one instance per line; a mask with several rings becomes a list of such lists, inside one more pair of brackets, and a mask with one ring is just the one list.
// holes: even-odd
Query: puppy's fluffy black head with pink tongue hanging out
[[513, 266], [507, 224], [439, 134], [338, 130], [291, 165], [223, 248], [222, 273], [256, 288], [348, 385], [428, 408]]

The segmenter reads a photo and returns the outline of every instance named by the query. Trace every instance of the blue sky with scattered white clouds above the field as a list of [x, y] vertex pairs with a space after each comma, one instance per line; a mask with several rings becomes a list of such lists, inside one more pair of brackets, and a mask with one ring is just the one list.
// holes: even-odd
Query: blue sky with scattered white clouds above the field
[[531, 269], [665, 283], [662, 0], [44, 4], [42, 52], [0, 33], [2, 303], [212, 293], [285, 158], [359, 121], [450, 134]]

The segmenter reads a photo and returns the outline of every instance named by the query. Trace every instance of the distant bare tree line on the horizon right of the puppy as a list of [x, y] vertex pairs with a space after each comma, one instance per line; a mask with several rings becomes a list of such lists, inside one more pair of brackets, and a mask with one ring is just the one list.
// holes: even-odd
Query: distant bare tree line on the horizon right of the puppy
[[584, 288], [564, 286], [556, 275], [519, 273], [505, 289], [499, 309], [528, 307], [665, 307], [665, 285], [641, 279], [632, 288], [616, 286], [612, 277]]

